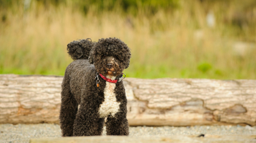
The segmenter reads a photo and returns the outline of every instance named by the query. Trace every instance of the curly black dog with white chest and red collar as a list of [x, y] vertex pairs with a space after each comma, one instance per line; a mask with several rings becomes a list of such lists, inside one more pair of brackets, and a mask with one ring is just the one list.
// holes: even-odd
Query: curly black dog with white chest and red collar
[[130, 48], [120, 39], [106, 38], [73, 41], [67, 50], [75, 61], [62, 82], [62, 136], [102, 135], [105, 117], [107, 135], [129, 135], [122, 71], [129, 66]]

